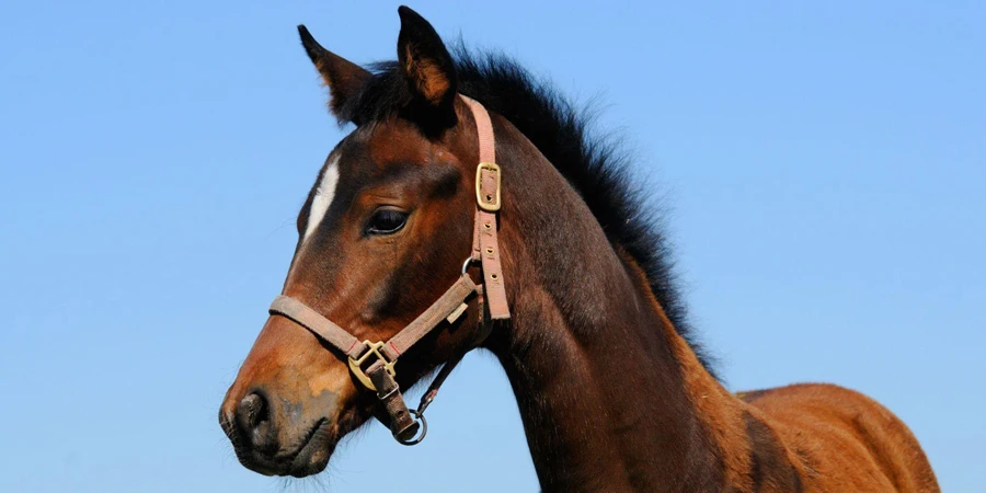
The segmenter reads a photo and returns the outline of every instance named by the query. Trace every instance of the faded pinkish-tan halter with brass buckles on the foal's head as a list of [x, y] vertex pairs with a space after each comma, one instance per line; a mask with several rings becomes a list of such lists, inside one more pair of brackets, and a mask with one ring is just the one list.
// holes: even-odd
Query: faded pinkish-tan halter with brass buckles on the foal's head
[[[424, 411], [438, 393], [452, 368], [466, 353], [479, 346], [489, 335], [492, 320], [511, 318], [504, 290], [503, 267], [500, 262], [500, 244], [496, 239], [496, 213], [501, 206], [501, 172], [496, 165], [495, 139], [490, 114], [479, 102], [459, 94], [472, 112], [479, 135], [480, 163], [475, 169], [475, 225], [472, 234], [472, 252], [462, 265], [462, 275], [431, 307], [393, 337], [383, 342], [360, 342], [345, 329], [336, 325], [318, 311], [289, 296], [278, 296], [271, 305], [272, 316], [286, 317], [308, 329], [348, 357], [349, 370], [368, 390], [377, 392], [377, 399], [387, 411], [393, 437], [404, 445], [415, 445], [427, 433]], [[469, 265], [480, 262], [483, 283], [475, 285], [467, 273]], [[409, 410], [397, 377], [398, 357], [422, 337], [438, 328], [443, 321], [452, 323], [468, 308], [467, 301], [475, 295], [480, 310], [479, 337], [452, 359], [448, 360], [432, 381], [416, 410]], [[485, 301], [485, 302], [484, 302]], [[484, 305], [486, 306], [484, 308]], [[378, 416], [379, 417], [379, 416]], [[419, 424], [420, 422], [420, 424]], [[419, 431], [421, 434], [419, 435]]]

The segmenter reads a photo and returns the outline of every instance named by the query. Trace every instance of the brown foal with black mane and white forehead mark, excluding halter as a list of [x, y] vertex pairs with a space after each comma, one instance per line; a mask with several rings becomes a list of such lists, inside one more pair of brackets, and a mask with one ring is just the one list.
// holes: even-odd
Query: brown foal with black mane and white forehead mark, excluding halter
[[[356, 129], [298, 217], [285, 297], [375, 343], [463, 268], [489, 282], [488, 265], [462, 265], [481, 161], [465, 94], [492, 117], [502, 207], [490, 214], [511, 317], [491, 321], [482, 293], [466, 298], [401, 348], [397, 385], [491, 351], [544, 491], [939, 491], [907, 426], [858, 392], [726, 390], [689, 342], [660, 231], [577, 113], [508, 60], [452, 58], [424, 19], [399, 12], [398, 61], [372, 72], [300, 28], [330, 108]], [[320, 472], [343, 435], [389, 420], [352, 355], [309, 329], [272, 314], [222, 403], [237, 456], [257, 472]]]

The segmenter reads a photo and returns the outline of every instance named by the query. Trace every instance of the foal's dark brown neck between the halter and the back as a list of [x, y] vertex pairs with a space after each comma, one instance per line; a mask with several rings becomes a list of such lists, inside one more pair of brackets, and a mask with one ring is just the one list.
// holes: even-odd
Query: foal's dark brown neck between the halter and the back
[[698, 362], [575, 191], [519, 131], [496, 125], [514, 316], [489, 348], [509, 378], [544, 491], [743, 483], [740, 401]]

